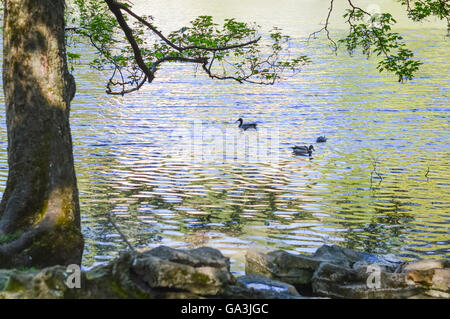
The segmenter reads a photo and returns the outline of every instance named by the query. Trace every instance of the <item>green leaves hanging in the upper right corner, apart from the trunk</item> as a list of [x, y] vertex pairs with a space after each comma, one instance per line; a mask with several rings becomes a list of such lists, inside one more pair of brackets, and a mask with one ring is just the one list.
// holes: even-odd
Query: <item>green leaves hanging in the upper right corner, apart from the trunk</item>
[[[450, 34], [450, 1], [399, 0], [399, 2], [406, 7], [408, 17], [413, 21], [424, 21], [431, 17], [445, 19]], [[350, 29], [348, 35], [338, 40], [338, 43], [343, 44], [350, 55], [360, 49], [367, 57], [373, 54], [383, 56], [377, 66], [380, 72], [387, 71], [397, 75], [399, 82], [411, 80], [422, 62], [414, 59], [414, 53], [407, 49], [403, 37], [392, 32], [392, 27], [396, 23], [393, 16], [390, 13], [371, 14], [355, 5], [352, 0], [347, 0], [347, 3], [348, 9], [343, 18]], [[329, 32], [329, 19], [333, 12], [333, 4], [334, 0], [330, 0], [325, 26], [311, 36], [326, 31], [327, 38], [337, 52], [338, 46], [330, 37]]]

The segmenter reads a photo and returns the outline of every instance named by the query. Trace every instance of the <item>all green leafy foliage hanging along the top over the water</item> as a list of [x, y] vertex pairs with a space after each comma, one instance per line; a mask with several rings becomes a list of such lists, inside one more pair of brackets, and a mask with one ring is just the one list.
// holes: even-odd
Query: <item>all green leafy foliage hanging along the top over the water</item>
[[[345, 1], [345, 0], [343, 0]], [[435, 17], [446, 20], [450, 33], [450, 1], [398, 0], [412, 21]], [[335, 42], [330, 37], [330, 0], [325, 26], [311, 36], [326, 31], [337, 52], [343, 45], [350, 55], [380, 56], [377, 69], [390, 72], [399, 82], [411, 80], [422, 62], [406, 46], [403, 37], [392, 31], [396, 20], [390, 13], [371, 14], [347, 0], [343, 18], [349, 26], [346, 37]], [[138, 15], [128, 2], [115, 0], [71, 0], [67, 20], [73, 36], [87, 38], [96, 48], [91, 65], [111, 69], [107, 93], [125, 94], [151, 82], [163, 63], [193, 63], [209, 77], [240, 83], [273, 84], [287, 72], [295, 73], [309, 62], [306, 56], [291, 56], [290, 38], [278, 28], [261, 36], [255, 23], [226, 19], [218, 25], [211, 16], [200, 16], [189, 25], [164, 35], [152, 16]], [[80, 56], [68, 53], [69, 60]]]

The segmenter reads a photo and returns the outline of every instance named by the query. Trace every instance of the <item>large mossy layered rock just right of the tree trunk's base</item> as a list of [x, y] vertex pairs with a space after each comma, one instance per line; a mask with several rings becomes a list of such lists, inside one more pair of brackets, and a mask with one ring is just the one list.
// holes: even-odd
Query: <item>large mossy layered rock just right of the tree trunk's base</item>
[[[220, 295], [236, 282], [229, 259], [213, 248], [192, 250], [159, 246], [138, 253], [125, 252], [106, 267], [91, 270], [87, 287], [130, 298], [200, 298]], [[123, 297], [123, 296], [122, 296]]]

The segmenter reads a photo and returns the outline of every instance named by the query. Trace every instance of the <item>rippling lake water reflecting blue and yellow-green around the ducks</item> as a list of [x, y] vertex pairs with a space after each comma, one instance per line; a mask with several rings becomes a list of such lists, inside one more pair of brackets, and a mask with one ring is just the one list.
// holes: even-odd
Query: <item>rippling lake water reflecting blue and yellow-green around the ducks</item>
[[[136, 2], [163, 31], [199, 14], [281, 26], [295, 52], [312, 63], [274, 86], [213, 81], [191, 65], [170, 64], [125, 97], [104, 93], [107, 74], [77, 66], [71, 124], [86, 267], [127, 248], [108, 214], [135, 247], [215, 247], [237, 273], [249, 247], [312, 253], [334, 243], [405, 259], [450, 256], [450, 42], [444, 28], [403, 22], [399, 31], [424, 65], [413, 81], [399, 84], [379, 74], [375, 60], [343, 51], [335, 56], [323, 39], [308, 45], [326, 1], [315, 1], [321, 9], [286, 0], [277, 7], [268, 1], [244, 7], [234, 0]], [[377, 3], [384, 9], [385, 1]], [[78, 50], [85, 53], [82, 63], [92, 56]], [[3, 96], [1, 102], [2, 191]], [[239, 117], [257, 122], [259, 130], [240, 132]], [[192, 134], [203, 157], [185, 152], [180, 132]], [[314, 143], [320, 135], [327, 143]], [[223, 156], [230, 136], [237, 150]], [[255, 143], [269, 143], [275, 155], [254, 156]], [[312, 158], [296, 156], [295, 144], [313, 144], [316, 151]]]

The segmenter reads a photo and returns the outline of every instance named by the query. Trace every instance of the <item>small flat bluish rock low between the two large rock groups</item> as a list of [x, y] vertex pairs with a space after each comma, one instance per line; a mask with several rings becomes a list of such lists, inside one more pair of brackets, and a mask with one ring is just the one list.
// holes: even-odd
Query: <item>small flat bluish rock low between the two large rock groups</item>
[[259, 291], [266, 299], [301, 298], [294, 286], [265, 276], [247, 275], [238, 277], [237, 280], [248, 289]]

